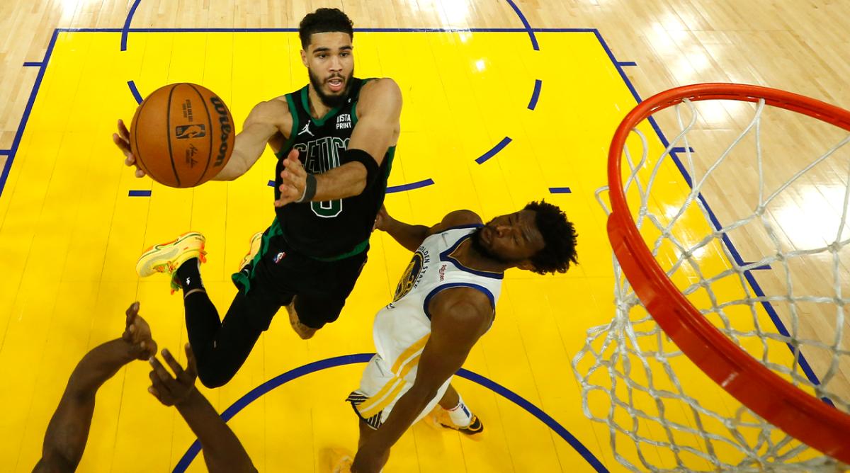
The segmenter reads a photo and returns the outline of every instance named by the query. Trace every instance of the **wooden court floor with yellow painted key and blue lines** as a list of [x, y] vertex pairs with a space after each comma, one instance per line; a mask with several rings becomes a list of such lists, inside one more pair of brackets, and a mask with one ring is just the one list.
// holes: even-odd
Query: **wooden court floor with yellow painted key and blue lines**
[[[259, 101], [303, 87], [297, 23], [325, 6], [354, 20], [355, 74], [393, 77], [404, 95], [386, 200], [394, 217], [432, 224], [468, 208], [487, 220], [546, 199], [579, 234], [581, 264], [570, 273], [506, 274], [496, 323], [456, 381], [484, 438], [415, 425], [393, 448], [387, 472], [621, 471], [607, 426], [582, 411], [570, 365], [587, 329], [614, 313], [605, 213], [594, 191], [607, 183], [615, 127], [641, 98], [694, 82], [752, 83], [850, 108], [842, 54], [850, 5], [828, 0], [8, 0], [0, 5], [0, 470], [32, 469], [71, 369], [121, 334], [130, 302], [141, 302], [159, 345], [180, 352], [182, 301], [168, 294], [167, 279], [137, 278], [144, 248], [189, 230], [205, 234], [201, 273], [223, 312], [235, 294], [229, 274], [274, 217], [270, 152], [235, 182], [170, 189], [123, 166], [110, 138], [116, 120], [129, 121], [136, 94], [195, 82], [219, 93], [241, 124]], [[752, 113], [715, 111], [690, 143], [700, 171]], [[660, 127], [667, 138], [678, 130], [670, 120]], [[652, 130], [648, 136], [651, 149], [664, 149]], [[836, 138], [809, 123], [765, 127], [766, 177], [787, 179]], [[785, 244], [834, 238], [837, 223], [819, 222], [841, 218], [847, 163], [845, 152], [782, 200], [776, 222]], [[668, 167], [660, 201], [687, 189]], [[746, 176], [724, 168], [706, 187], [721, 221], [743, 215], [757, 186]], [[694, 227], [694, 235], [705, 231]], [[746, 261], [767, 242], [757, 233], [733, 237]], [[332, 449], [354, 451], [357, 419], [343, 401], [374, 351], [371, 320], [409, 257], [375, 234], [339, 321], [301, 341], [279, 314], [234, 380], [201, 388], [219, 412], [229, 409], [229, 425], [260, 471], [330, 471]], [[700, 258], [723, 265], [720, 251]], [[836, 279], [845, 294], [848, 262], [842, 254]], [[798, 287], [831, 296], [832, 264], [795, 267]], [[785, 273], [760, 271], [757, 279], [781, 291]], [[801, 318], [800, 336], [830, 339], [829, 318], [807, 310], [813, 315]], [[845, 322], [844, 350], [847, 329]], [[815, 373], [830, 366], [823, 353], [803, 354]], [[787, 352], [771, 360], [792, 361]], [[131, 363], [99, 391], [79, 471], [204, 469], [188, 426], [146, 392], [149, 371]], [[836, 372], [830, 386], [847, 402], [850, 360]], [[721, 392], [693, 366], [677, 374], [706, 386], [706, 398]], [[644, 454], [668, 461], [651, 446]]]

